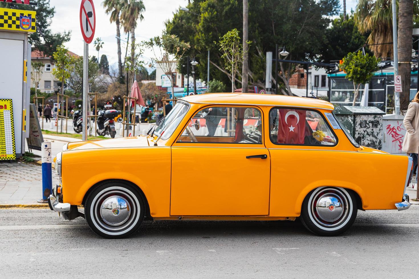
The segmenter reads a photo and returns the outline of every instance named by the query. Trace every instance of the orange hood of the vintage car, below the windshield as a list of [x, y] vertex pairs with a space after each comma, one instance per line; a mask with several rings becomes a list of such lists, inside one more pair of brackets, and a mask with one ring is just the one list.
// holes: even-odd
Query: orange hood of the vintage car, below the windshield
[[[151, 143], [153, 144], [153, 143]], [[150, 146], [147, 136], [110, 138], [93, 141], [76, 141], [68, 143], [67, 150], [97, 149], [97, 148], [129, 148]]]

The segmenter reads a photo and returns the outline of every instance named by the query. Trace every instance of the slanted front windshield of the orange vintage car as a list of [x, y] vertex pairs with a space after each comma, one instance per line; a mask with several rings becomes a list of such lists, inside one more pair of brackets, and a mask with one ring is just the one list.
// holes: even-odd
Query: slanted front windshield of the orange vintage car
[[166, 117], [163, 118], [161, 123], [159, 123], [157, 126], [155, 134], [157, 136], [161, 135], [161, 139], [163, 140], [170, 138], [170, 136], [176, 130], [176, 127], [188, 112], [189, 106], [189, 103], [184, 101], [176, 102], [176, 105], [173, 107], [170, 113], [166, 115]]

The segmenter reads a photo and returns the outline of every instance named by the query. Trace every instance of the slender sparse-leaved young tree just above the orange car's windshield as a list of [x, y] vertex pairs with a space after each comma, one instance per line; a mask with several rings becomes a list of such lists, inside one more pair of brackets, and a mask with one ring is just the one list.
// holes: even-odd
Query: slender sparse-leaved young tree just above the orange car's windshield
[[189, 42], [181, 41], [176, 35], [163, 33], [161, 37], [150, 38], [150, 41], [145, 41], [144, 44], [153, 51], [152, 64], [158, 63], [170, 79], [173, 92], [173, 73], [185, 52], [191, 47]]

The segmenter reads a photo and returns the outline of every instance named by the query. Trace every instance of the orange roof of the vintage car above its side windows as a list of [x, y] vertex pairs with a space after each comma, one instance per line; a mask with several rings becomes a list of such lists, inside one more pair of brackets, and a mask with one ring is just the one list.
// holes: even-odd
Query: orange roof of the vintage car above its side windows
[[326, 102], [324, 100], [254, 93], [205, 93], [199, 95], [189, 95], [183, 97], [182, 100], [197, 104], [266, 105], [320, 108], [324, 110], [334, 109], [334, 106], [330, 102]]

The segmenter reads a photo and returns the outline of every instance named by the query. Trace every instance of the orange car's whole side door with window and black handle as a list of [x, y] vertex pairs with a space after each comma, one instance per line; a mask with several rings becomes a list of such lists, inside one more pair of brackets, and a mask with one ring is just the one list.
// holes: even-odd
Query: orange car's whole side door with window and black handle
[[262, 119], [250, 107], [205, 108], [194, 116], [171, 148], [171, 215], [269, 214]]

